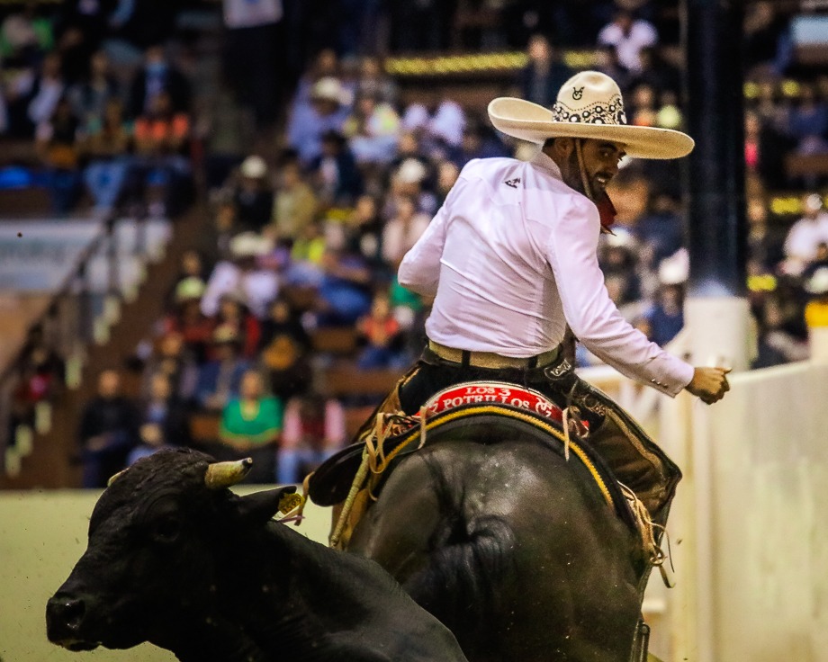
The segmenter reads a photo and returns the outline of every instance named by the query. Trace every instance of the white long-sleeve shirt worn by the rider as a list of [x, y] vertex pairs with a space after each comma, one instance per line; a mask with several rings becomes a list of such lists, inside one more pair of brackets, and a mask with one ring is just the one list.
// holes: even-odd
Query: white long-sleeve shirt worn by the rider
[[449, 347], [526, 357], [561, 343], [567, 323], [590, 352], [671, 396], [693, 368], [618, 312], [596, 255], [599, 212], [543, 152], [530, 162], [464, 166], [405, 255], [404, 287], [435, 296], [428, 337]]

